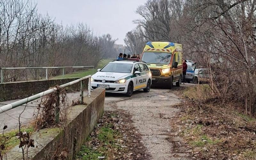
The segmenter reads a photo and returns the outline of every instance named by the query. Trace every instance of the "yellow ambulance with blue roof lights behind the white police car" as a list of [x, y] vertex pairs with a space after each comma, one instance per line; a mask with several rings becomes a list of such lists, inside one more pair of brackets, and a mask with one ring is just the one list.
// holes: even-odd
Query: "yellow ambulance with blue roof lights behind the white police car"
[[152, 85], [172, 89], [173, 83], [180, 86], [182, 79], [182, 45], [172, 42], [148, 42], [140, 60], [152, 73]]

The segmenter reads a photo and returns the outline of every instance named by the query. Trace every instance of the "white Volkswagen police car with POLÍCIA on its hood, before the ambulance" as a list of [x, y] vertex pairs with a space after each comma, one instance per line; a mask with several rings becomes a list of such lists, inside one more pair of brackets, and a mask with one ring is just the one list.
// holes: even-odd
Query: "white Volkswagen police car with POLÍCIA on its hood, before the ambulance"
[[130, 97], [136, 90], [149, 92], [151, 80], [152, 74], [147, 64], [139, 59], [118, 58], [92, 75], [91, 90], [102, 87], [106, 92], [125, 93]]

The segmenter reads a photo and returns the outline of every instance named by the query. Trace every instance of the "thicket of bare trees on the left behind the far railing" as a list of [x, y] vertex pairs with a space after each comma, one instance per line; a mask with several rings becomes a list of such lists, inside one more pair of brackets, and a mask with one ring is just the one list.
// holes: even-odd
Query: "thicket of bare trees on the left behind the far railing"
[[[115, 41], [109, 34], [94, 36], [82, 23], [56, 24], [48, 15], [38, 14], [30, 0], [0, 0], [0, 67], [96, 65], [111, 55]], [[8, 70], [4, 81], [44, 76], [38, 69]]]

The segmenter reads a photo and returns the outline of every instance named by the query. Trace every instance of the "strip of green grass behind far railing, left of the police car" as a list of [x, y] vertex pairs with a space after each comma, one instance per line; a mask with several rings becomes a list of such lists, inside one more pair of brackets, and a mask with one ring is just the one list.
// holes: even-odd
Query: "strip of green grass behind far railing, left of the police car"
[[[102, 59], [99, 61], [97, 67], [95, 67], [94, 69], [88, 69], [85, 71], [79, 71], [79, 72], [73, 72], [71, 74], [65, 74], [64, 78], [84, 77], [84, 76], [88, 76], [88, 75], [93, 75], [94, 73], [97, 72], [97, 69], [102, 68], [105, 64], [107, 64], [108, 62], [111, 62], [111, 61], [113, 61], [113, 59]], [[51, 79], [58, 79], [58, 78], [62, 78], [62, 75], [52, 77]]]

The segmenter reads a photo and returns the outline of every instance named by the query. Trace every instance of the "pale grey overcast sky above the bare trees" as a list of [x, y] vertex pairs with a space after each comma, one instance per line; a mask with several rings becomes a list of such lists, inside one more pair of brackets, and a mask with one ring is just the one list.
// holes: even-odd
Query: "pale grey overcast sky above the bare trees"
[[137, 7], [147, 0], [35, 0], [38, 12], [48, 13], [66, 26], [83, 22], [97, 35], [112, 35], [116, 44], [124, 44], [125, 34], [136, 27]]

